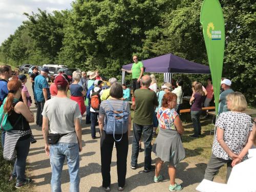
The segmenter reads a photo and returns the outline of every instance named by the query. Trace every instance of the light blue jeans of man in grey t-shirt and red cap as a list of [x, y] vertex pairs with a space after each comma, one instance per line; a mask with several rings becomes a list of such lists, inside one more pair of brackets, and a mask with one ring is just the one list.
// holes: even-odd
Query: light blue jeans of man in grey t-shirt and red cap
[[52, 192], [61, 191], [61, 172], [67, 157], [70, 177], [70, 191], [79, 191], [79, 147], [77, 143], [56, 143], [50, 147], [50, 162], [52, 167]]

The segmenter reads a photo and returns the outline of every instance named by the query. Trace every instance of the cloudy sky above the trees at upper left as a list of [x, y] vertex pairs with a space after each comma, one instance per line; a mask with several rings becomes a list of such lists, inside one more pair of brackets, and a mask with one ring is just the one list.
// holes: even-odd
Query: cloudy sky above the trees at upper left
[[72, 0], [0, 0], [0, 45], [27, 20], [24, 12], [37, 13], [38, 8], [48, 13], [71, 9], [71, 2]]

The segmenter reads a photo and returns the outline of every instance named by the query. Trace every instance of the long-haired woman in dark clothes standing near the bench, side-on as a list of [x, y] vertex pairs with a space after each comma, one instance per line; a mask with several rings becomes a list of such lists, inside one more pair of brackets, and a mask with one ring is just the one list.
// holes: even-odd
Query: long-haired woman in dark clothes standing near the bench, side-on
[[191, 106], [191, 119], [193, 122], [194, 127], [194, 134], [190, 135], [192, 138], [198, 138], [199, 135], [201, 135], [201, 122], [200, 122], [200, 115], [202, 112], [202, 103], [203, 103], [203, 87], [200, 82], [196, 83], [193, 87], [193, 94], [189, 100], [190, 103], [193, 102]]

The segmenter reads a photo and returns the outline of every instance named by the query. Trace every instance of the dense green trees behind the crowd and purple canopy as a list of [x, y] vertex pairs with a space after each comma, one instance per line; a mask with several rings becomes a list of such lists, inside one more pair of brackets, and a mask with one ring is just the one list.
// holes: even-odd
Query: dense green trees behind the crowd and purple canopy
[[[252, 0], [221, 0], [226, 45], [223, 76], [256, 106], [255, 8]], [[173, 53], [208, 65], [199, 22], [202, 0], [77, 0], [71, 10], [39, 10], [1, 46], [7, 63], [63, 63], [120, 78], [133, 54]], [[204, 75], [175, 75], [204, 82]], [[162, 75], [158, 75], [162, 77]]]

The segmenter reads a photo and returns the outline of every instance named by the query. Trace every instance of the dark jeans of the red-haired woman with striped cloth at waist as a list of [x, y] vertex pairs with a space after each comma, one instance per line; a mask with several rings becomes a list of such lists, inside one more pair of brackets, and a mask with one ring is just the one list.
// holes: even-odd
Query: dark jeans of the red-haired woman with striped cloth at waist
[[18, 141], [16, 144], [17, 158], [15, 160], [12, 176], [17, 177], [17, 183], [25, 181], [26, 160], [29, 154], [30, 138]]

